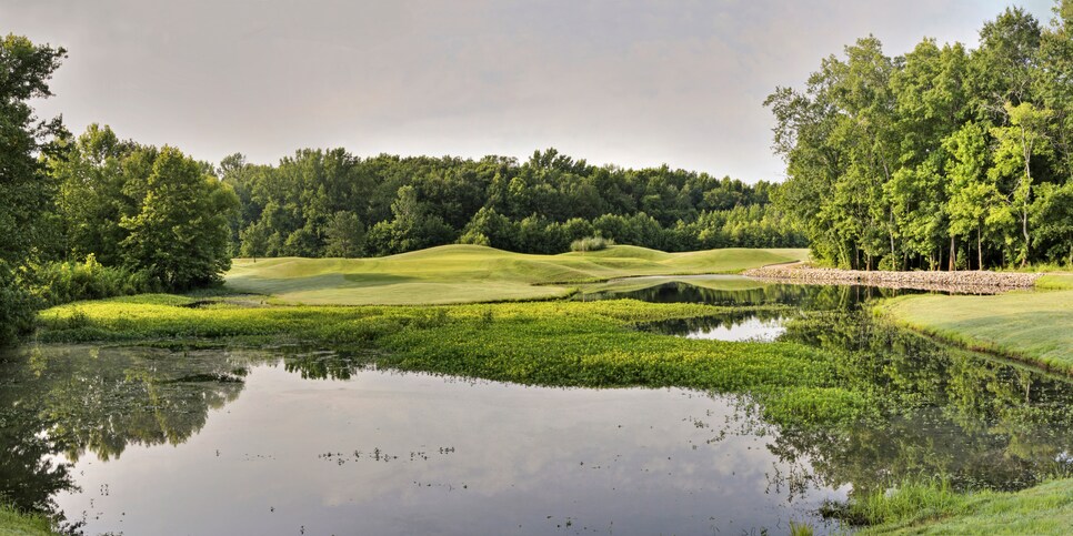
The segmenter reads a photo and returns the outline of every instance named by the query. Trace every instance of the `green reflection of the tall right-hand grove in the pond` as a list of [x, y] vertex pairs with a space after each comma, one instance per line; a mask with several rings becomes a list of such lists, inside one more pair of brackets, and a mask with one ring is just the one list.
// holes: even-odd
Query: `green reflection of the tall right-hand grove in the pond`
[[871, 491], [904, 477], [947, 475], [959, 486], [1023, 488], [1067, 472], [1073, 386], [1067, 380], [950, 348], [865, 313], [816, 313], [784, 341], [839, 360], [839, 382], [872, 394], [878, 419], [851, 429], [788, 427], [773, 451], [808, 456], [830, 486]]

